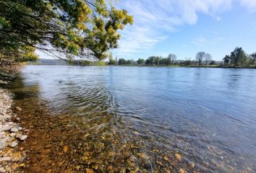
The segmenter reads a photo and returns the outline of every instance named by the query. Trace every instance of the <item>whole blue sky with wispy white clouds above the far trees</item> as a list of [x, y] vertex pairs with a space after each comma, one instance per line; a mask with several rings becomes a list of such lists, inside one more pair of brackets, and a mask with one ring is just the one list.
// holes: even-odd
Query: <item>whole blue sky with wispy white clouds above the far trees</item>
[[134, 17], [111, 50], [118, 58], [195, 59], [205, 51], [221, 60], [236, 46], [256, 52], [256, 0], [121, 0], [117, 6]]

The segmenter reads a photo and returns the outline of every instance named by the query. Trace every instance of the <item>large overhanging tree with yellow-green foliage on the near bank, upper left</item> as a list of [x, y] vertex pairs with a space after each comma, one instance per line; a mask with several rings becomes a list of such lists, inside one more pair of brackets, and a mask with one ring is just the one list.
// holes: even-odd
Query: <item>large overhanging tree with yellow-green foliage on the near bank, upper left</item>
[[0, 0], [0, 9], [4, 58], [20, 58], [29, 46], [67, 58], [102, 60], [107, 50], [117, 48], [118, 30], [133, 22], [126, 10], [98, 0]]

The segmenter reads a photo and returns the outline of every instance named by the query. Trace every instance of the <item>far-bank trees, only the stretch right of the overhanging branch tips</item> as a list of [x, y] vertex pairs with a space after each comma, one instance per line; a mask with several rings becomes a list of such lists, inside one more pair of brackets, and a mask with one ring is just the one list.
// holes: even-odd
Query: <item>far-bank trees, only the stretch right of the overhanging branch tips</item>
[[242, 48], [235, 48], [223, 61], [214, 61], [210, 53], [198, 52], [195, 60], [177, 60], [177, 56], [170, 53], [166, 58], [161, 56], [150, 56], [148, 59], [139, 58], [137, 61], [124, 58], [113, 58], [112, 53], [108, 55], [108, 65], [115, 66], [241, 66], [255, 67], [256, 53], [247, 54]]

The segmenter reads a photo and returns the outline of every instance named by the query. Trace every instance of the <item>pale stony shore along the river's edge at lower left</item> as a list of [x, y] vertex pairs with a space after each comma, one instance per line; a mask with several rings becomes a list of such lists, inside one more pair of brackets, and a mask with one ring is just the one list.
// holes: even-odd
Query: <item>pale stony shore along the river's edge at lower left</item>
[[[20, 107], [15, 109], [22, 111]], [[25, 141], [27, 133], [12, 111], [12, 93], [0, 88], [0, 172], [16, 172], [18, 167], [25, 167], [21, 164], [25, 151], [18, 144]]]

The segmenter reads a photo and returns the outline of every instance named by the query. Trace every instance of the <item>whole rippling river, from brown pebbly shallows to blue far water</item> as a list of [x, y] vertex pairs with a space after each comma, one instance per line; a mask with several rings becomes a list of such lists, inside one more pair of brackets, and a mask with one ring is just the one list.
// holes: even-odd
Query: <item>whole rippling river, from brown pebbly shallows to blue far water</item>
[[27, 171], [256, 172], [255, 84], [247, 69], [26, 66]]

